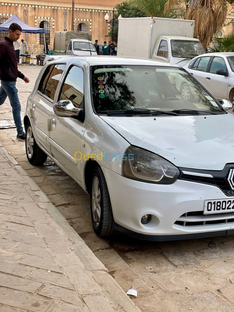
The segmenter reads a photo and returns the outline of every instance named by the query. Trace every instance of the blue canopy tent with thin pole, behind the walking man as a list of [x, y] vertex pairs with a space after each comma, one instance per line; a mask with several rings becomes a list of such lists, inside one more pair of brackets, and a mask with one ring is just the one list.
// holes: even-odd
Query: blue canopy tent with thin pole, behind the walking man
[[[44, 33], [44, 42], [45, 42], [45, 46], [46, 46], [45, 29], [32, 27], [32, 26], [25, 24], [24, 22], [21, 21], [21, 19], [16, 14], [13, 14], [6, 22], [0, 24], [0, 31], [8, 32], [9, 26], [12, 23], [17, 23], [22, 28], [22, 32], [27, 32], [27, 33], [31, 34], [31, 45], [32, 45], [32, 34], [43, 34]], [[32, 51], [32, 63], [33, 63], [33, 51]]]

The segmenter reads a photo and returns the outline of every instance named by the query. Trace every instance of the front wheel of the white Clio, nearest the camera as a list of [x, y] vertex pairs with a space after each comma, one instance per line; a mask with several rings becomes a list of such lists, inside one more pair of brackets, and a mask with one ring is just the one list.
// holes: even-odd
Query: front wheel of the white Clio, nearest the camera
[[114, 218], [104, 174], [96, 167], [91, 180], [90, 207], [93, 229], [98, 236], [114, 233]]

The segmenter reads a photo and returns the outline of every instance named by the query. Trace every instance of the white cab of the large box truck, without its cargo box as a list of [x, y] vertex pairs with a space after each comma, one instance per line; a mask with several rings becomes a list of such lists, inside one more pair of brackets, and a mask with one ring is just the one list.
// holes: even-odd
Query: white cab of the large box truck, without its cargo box
[[202, 43], [195, 38], [160, 36], [154, 46], [152, 59], [183, 66], [190, 59], [206, 53]]

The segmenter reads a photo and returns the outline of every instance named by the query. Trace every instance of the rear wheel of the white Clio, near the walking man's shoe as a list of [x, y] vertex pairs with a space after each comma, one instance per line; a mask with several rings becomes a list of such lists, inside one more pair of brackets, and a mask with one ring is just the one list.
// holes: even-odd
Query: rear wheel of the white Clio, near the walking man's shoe
[[47, 155], [37, 145], [33, 137], [30, 122], [26, 126], [25, 133], [25, 148], [28, 161], [32, 163], [32, 165], [42, 165], [46, 161]]

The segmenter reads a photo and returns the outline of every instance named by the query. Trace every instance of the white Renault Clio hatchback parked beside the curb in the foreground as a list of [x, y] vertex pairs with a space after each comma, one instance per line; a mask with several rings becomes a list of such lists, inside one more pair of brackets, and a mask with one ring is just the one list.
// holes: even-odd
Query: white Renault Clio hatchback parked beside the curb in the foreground
[[[193, 88], [193, 101], [170, 75]], [[43, 67], [28, 98], [27, 158], [39, 165], [48, 155], [90, 194], [99, 236], [233, 234], [234, 116], [222, 105], [176, 65], [66, 57]]]

